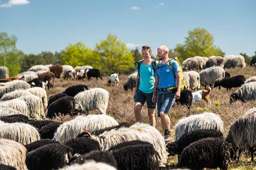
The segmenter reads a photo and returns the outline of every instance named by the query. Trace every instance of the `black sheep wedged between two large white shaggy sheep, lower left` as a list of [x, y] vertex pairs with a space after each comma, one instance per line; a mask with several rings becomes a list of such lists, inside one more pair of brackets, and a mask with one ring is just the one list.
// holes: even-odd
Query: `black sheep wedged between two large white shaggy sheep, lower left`
[[38, 133], [40, 134], [41, 139], [53, 139], [54, 133], [57, 131], [61, 122], [54, 122], [43, 126]]

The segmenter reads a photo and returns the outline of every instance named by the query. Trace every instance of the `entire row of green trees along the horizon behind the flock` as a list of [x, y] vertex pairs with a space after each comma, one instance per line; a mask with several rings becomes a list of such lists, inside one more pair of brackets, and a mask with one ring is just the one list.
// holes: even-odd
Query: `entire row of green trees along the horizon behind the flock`
[[[61, 64], [73, 67], [80, 65], [91, 65], [101, 71], [102, 75], [112, 73], [130, 74], [136, 71], [136, 62], [140, 60], [141, 51], [139, 48], [129, 50], [124, 42], [116, 35], [108, 34], [105, 40], [96, 43], [94, 49], [89, 48], [82, 42], [69, 44], [60, 52], [53, 54], [49, 51], [42, 51], [40, 54], [24, 54], [16, 48], [17, 37], [8, 36], [6, 32], [0, 33], [0, 66], [9, 68], [9, 75], [27, 71], [33, 65]], [[148, 44], [149, 45], [149, 44]], [[224, 56], [220, 47], [214, 45], [214, 37], [206, 29], [195, 28], [188, 31], [183, 44], [177, 44], [174, 49], [169, 50], [169, 56], [178, 56], [180, 62], [194, 56]], [[251, 59], [256, 57], [245, 57], [245, 63], [249, 65]], [[151, 56], [158, 59], [156, 55]]]

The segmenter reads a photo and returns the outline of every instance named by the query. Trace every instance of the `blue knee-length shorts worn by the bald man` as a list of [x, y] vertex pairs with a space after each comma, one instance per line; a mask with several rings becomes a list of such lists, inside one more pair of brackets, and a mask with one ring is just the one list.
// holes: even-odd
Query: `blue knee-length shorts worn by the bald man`
[[175, 102], [174, 98], [175, 93], [166, 93], [164, 94], [164, 102], [162, 103], [162, 94], [159, 94], [158, 100], [157, 100], [157, 116], [160, 116], [160, 112], [164, 112], [165, 114], [168, 114], [170, 108], [172, 107], [173, 103]]

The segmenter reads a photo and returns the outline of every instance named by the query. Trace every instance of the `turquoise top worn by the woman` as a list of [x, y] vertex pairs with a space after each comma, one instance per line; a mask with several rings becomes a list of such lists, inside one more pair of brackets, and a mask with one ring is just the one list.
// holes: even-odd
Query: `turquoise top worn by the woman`
[[[157, 65], [158, 61], [156, 61]], [[138, 65], [138, 63], [137, 63]], [[137, 73], [138, 69], [137, 69]], [[140, 67], [140, 85], [139, 90], [141, 90], [144, 93], [153, 93], [154, 92], [154, 83], [155, 83], [155, 73], [152, 64], [150, 65], [144, 65], [141, 62]]]

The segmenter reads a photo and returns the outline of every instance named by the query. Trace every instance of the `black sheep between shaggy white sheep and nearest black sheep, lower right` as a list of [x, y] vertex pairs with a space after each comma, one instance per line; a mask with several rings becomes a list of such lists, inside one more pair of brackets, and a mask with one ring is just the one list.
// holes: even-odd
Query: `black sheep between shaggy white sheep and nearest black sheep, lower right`
[[223, 139], [223, 133], [215, 129], [198, 129], [191, 132], [186, 132], [177, 141], [167, 144], [166, 148], [168, 149], [169, 156], [178, 154], [179, 158], [179, 155], [186, 146], [195, 141], [208, 137], [218, 137]]

